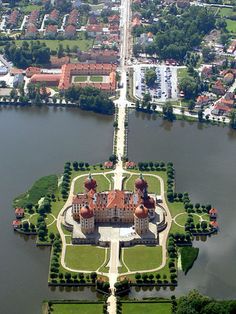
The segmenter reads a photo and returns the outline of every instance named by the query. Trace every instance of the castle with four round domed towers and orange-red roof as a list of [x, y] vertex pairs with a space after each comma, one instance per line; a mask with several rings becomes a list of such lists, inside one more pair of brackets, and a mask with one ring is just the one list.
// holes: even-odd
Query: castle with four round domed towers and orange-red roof
[[148, 184], [143, 176], [135, 181], [135, 191], [112, 190], [97, 192], [97, 182], [91, 175], [84, 182], [85, 192], [74, 196], [72, 216], [84, 234], [94, 232], [96, 223], [132, 223], [137, 234], [149, 229], [155, 201], [148, 195]]

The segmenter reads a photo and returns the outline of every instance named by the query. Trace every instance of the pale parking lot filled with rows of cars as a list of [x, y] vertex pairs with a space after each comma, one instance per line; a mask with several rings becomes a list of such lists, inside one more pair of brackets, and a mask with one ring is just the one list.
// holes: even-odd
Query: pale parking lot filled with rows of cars
[[[148, 68], [155, 68], [157, 79], [152, 88], [145, 83], [145, 72]], [[177, 100], [177, 67], [166, 65], [136, 65], [134, 67], [134, 94], [142, 99], [149, 93], [152, 102]]]

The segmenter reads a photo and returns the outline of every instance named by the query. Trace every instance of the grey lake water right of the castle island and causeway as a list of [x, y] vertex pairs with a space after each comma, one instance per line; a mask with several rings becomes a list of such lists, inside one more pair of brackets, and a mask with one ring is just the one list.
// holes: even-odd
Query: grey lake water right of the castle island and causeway
[[[220, 232], [206, 242], [195, 241], [199, 257], [187, 276], [179, 276], [176, 295], [195, 288], [216, 298], [236, 298], [236, 132], [132, 113], [128, 154], [135, 161], [172, 161], [177, 191], [219, 210]], [[161, 291], [158, 295], [173, 294]], [[156, 294], [133, 291], [131, 296]]]

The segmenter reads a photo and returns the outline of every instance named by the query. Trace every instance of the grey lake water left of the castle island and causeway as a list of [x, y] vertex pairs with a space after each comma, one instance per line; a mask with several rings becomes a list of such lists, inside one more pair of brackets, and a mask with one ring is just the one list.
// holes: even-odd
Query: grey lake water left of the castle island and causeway
[[79, 110], [0, 110], [0, 313], [39, 314], [44, 299], [95, 299], [83, 291], [47, 286], [49, 248], [13, 232], [12, 199], [41, 176], [61, 173], [65, 161], [101, 162], [112, 152], [113, 118]]

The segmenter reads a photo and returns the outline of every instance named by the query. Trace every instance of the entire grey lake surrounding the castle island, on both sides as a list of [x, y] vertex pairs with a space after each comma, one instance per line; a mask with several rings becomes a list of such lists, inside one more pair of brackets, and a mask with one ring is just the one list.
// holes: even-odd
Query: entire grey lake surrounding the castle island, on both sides
[[[0, 313], [39, 314], [48, 298], [96, 299], [90, 289], [47, 286], [49, 248], [37, 248], [34, 240], [13, 232], [11, 203], [37, 178], [60, 173], [65, 161], [106, 160], [112, 151], [112, 125], [112, 117], [79, 110], [0, 110]], [[175, 293], [196, 288], [213, 297], [236, 298], [236, 132], [132, 113], [128, 147], [131, 160], [174, 162], [177, 191], [188, 191], [194, 203], [210, 202], [219, 210], [219, 234], [195, 242], [199, 257], [187, 276], [180, 275]], [[131, 297], [170, 294], [133, 290]]]

